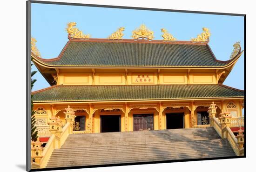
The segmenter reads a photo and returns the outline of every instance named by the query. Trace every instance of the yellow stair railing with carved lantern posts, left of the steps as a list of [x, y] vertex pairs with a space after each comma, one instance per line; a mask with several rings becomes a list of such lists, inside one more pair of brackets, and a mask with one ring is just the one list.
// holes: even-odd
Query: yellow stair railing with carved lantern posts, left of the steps
[[60, 118], [52, 117], [48, 124], [50, 125], [49, 132], [51, 132], [51, 137], [49, 138], [46, 146], [42, 148], [42, 143], [39, 141], [39, 138], [36, 142], [32, 141], [31, 143], [31, 168], [46, 168], [46, 165], [54, 151], [54, 149], [60, 149], [67, 139], [69, 134], [73, 133], [74, 126], [74, 111], [69, 106], [65, 109], [66, 114], [66, 125], [62, 128]]

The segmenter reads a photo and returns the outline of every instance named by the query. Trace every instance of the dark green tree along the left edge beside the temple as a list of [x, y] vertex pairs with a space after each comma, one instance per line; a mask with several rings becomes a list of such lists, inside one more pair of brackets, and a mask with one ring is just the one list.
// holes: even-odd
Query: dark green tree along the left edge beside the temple
[[[31, 60], [32, 61], [32, 60]], [[33, 64], [31, 64], [31, 67], [33, 66]], [[33, 75], [36, 73], [36, 71], [32, 71], [31, 72], [31, 90], [34, 86], [34, 83], [36, 81], [36, 79], [32, 79]], [[37, 131], [36, 131], [36, 126], [35, 126], [35, 118], [34, 118], [34, 104], [32, 101], [33, 95], [31, 94], [31, 140], [36, 141], [36, 139], [38, 138], [37, 136]]]

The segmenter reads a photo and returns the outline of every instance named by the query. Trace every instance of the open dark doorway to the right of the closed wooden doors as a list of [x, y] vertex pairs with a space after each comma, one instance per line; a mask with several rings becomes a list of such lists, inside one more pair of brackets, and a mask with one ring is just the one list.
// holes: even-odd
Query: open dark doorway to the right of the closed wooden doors
[[166, 129], [184, 128], [184, 113], [166, 113]]

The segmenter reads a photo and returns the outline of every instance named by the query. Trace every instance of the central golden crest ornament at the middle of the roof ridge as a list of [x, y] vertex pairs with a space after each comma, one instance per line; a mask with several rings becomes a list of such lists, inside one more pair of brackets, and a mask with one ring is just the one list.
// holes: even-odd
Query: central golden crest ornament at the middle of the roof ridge
[[144, 38], [147, 38], [148, 40], [153, 40], [154, 36], [154, 32], [150, 31], [144, 24], [142, 24], [139, 28], [137, 28], [136, 30], [134, 30], [132, 35], [132, 38], [134, 38], [134, 40], [138, 40], [138, 39], [142, 39], [144, 40]]

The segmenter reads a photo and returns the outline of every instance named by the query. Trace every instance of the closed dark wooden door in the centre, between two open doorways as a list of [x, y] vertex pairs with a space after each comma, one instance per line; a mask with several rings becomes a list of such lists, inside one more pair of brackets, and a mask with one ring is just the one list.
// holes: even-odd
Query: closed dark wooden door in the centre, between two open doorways
[[133, 124], [134, 124], [133, 125], [134, 131], [153, 130], [154, 129], [153, 114], [134, 115]]

